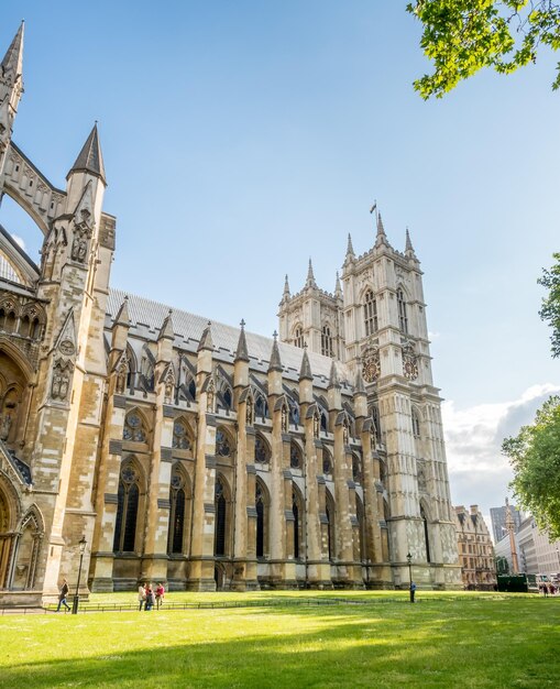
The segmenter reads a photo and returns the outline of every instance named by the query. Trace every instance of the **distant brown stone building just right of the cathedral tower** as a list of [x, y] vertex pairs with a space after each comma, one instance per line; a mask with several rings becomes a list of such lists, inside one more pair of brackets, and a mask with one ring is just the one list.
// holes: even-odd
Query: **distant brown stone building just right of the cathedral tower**
[[479, 511], [471, 505], [455, 507], [457, 547], [465, 589], [493, 590], [497, 583], [494, 547], [488, 527]]

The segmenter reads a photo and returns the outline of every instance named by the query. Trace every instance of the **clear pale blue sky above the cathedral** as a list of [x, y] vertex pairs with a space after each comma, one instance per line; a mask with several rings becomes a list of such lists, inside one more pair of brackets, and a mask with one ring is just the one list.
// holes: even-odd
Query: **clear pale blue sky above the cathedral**
[[[453, 500], [487, 508], [507, 483], [497, 430], [529, 420], [542, 389], [527, 389], [560, 383], [536, 284], [560, 250], [556, 61], [425, 102], [405, 4], [3, 0], [2, 52], [26, 21], [14, 140], [64, 186], [99, 120], [113, 286], [265, 335], [285, 273], [298, 289], [311, 255], [330, 291], [348, 232], [371, 248], [377, 199], [392, 243], [408, 226], [422, 262]], [[37, 258], [10, 200], [0, 222]], [[502, 426], [466, 447], [458, 413]]]

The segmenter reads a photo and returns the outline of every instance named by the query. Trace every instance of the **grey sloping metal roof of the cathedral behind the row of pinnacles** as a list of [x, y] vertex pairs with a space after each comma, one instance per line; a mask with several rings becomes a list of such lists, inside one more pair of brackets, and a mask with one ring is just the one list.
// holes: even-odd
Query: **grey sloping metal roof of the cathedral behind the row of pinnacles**
[[[162, 324], [169, 313], [169, 306], [165, 304], [152, 302], [151, 299], [132, 295], [121, 289], [110, 289], [107, 302], [108, 322], [106, 325], [108, 327], [112, 326], [125, 295], [129, 297], [129, 315], [131, 320], [130, 335], [138, 335], [140, 338], [156, 341]], [[175, 347], [195, 353], [198, 349], [204, 330], [208, 325], [208, 318], [174, 308], [173, 325], [175, 330]], [[212, 320], [215, 359], [218, 361], [233, 362], [239, 336], [239, 327], [227, 326]], [[273, 338], [263, 337], [262, 335], [248, 332], [245, 330], [245, 339], [250, 368], [266, 373], [271, 362]], [[304, 350], [292, 344], [286, 344], [285, 342], [278, 342], [278, 349], [284, 368], [284, 376], [297, 381]], [[320, 387], [327, 387], [332, 359], [310, 351], [307, 352], [307, 356], [309, 357], [315, 384]], [[342, 387], [347, 389], [349, 392], [351, 390], [347, 381], [342, 383]]]

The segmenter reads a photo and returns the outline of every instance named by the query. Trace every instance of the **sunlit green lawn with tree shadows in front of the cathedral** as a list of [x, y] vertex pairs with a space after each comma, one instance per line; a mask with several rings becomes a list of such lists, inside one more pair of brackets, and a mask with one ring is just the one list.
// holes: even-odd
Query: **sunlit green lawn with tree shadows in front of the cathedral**
[[[295, 601], [345, 599], [337, 605]], [[134, 593], [97, 595], [133, 602]], [[0, 617], [0, 687], [557, 687], [560, 598], [188, 594], [285, 606]], [[365, 601], [365, 603], [363, 603]], [[359, 603], [359, 604], [355, 604]]]

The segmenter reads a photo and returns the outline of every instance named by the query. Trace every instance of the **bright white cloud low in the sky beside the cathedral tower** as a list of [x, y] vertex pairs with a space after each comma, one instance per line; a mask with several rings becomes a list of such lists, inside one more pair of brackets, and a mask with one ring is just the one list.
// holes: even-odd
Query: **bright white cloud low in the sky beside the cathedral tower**
[[490, 507], [504, 504], [512, 470], [502, 455], [502, 442], [532, 423], [536, 411], [559, 392], [560, 386], [545, 383], [532, 385], [512, 402], [465, 409], [457, 409], [452, 401], [443, 402], [441, 412], [454, 505], [477, 504], [486, 515]]

